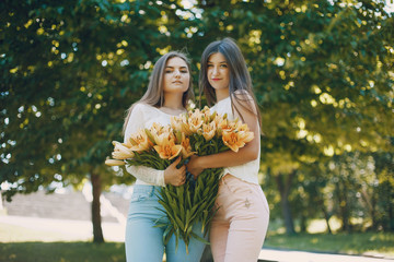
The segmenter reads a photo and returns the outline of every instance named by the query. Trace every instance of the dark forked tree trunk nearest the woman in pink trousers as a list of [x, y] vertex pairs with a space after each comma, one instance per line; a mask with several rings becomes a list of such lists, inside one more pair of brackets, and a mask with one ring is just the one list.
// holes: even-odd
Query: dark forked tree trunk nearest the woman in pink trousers
[[280, 205], [281, 205], [281, 211], [282, 211], [282, 216], [285, 219], [285, 227], [286, 227], [286, 233], [287, 235], [294, 235], [296, 230], [294, 230], [294, 223], [291, 216], [291, 210], [290, 210], [290, 203], [289, 203], [289, 194], [290, 194], [290, 188], [291, 188], [291, 182], [292, 182], [292, 178], [296, 175], [296, 170], [290, 172], [287, 176], [286, 182], [283, 183], [285, 180], [285, 175], [279, 174], [278, 176], [276, 176], [276, 182], [278, 184], [278, 189], [280, 192]]

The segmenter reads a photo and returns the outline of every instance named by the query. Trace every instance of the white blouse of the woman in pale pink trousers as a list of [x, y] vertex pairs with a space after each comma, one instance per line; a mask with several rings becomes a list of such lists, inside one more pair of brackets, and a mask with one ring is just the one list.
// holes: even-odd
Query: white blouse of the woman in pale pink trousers
[[[235, 119], [231, 107], [230, 96], [219, 100], [215, 106], [210, 108], [210, 111], [217, 111], [219, 115], [228, 115], [228, 119]], [[259, 134], [254, 134], [259, 136]], [[258, 140], [258, 148], [260, 147]], [[240, 178], [246, 182], [258, 184], [258, 169], [259, 169], [260, 151], [258, 151], [258, 157], [255, 160], [247, 162], [245, 164], [232, 167], [224, 167], [224, 175], [231, 174], [234, 177]]]

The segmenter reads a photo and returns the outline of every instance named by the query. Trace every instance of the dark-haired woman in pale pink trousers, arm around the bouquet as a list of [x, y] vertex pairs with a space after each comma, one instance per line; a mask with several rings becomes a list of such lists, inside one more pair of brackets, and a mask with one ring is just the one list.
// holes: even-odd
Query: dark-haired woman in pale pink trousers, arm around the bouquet
[[234, 40], [213, 41], [204, 50], [199, 79], [200, 96], [211, 111], [240, 118], [254, 139], [237, 153], [227, 151], [193, 156], [187, 170], [197, 177], [205, 168], [224, 167], [219, 183], [210, 242], [216, 262], [255, 262], [267, 233], [269, 207], [258, 184], [260, 115], [252, 91], [246, 62]]

